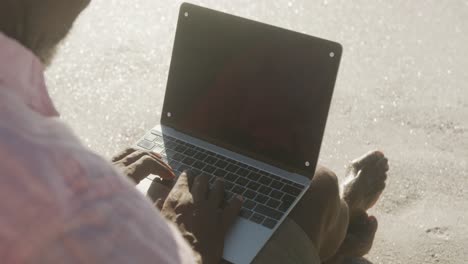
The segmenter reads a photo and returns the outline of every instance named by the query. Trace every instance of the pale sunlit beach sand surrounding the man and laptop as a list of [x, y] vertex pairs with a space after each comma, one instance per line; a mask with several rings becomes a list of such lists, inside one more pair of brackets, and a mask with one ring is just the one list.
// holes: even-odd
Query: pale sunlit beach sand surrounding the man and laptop
[[[336, 40], [344, 55], [320, 163], [380, 149], [388, 187], [371, 263], [468, 262], [468, 1], [196, 1]], [[160, 117], [180, 1], [94, 0], [47, 82], [64, 121], [110, 157]]]

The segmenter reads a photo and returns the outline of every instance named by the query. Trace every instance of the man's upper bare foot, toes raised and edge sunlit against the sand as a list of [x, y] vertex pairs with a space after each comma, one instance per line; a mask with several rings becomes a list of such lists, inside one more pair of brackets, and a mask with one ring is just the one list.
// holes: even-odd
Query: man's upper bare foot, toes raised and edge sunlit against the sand
[[380, 151], [369, 152], [351, 162], [342, 187], [350, 224], [377, 202], [385, 188], [388, 168], [388, 160]]

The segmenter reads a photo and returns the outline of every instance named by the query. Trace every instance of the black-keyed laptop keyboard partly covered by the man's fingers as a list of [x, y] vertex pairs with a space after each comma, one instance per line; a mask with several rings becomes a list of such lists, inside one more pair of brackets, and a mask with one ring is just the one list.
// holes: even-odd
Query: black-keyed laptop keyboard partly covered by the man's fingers
[[179, 175], [190, 170], [194, 175], [223, 178], [225, 200], [242, 195], [244, 203], [240, 216], [273, 229], [304, 189], [303, 185], [271, 173], [199, 148], [173, 137], [152, 131], [138, 146], [160, 154]]

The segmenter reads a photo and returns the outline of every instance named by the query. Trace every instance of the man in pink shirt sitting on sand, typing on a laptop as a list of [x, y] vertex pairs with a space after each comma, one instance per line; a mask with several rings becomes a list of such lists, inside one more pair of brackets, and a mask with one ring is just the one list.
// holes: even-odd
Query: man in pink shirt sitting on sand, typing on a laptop
[[[57, 118], [43, 65], [88, 3], [0, 0], [0, 259], [218, 263], [241, 197], [221, 209], [221, 180], [210, 190], [205, 176], [183, 173], [168, 195], [156, 192], [159, 213], [128, 179], [138, 182], [152, 173], [170, 182], [174, 175], [160, 157], [126, 150], [113, 160], [125, 178]], [[319, 169], [310, 191], [256, 261], [294, 257], [284, 243], [302, 248], [299, 263], [319, 262], [314, 253], [329, 263], [367, 253], [377, 226], [366, 210], [382, 192], [387, 170], [380, 152], [355, 161], [341, 200], [336, 176]], [[165, 187], [155, 183], [155, 188]]]

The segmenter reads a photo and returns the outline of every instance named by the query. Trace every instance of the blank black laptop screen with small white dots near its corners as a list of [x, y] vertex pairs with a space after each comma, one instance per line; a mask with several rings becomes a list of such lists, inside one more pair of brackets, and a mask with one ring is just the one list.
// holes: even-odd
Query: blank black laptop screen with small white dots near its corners
[[162, 124], [311, 177], [341, 47], [182, 6]]

